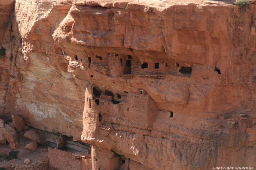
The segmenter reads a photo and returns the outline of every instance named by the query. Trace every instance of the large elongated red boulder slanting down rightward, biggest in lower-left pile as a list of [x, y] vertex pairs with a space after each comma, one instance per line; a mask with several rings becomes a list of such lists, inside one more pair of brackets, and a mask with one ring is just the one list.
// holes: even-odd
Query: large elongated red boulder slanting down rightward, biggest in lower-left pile
[[8, 124], [4, 124], [3, 134], [5, 139], [9, 142], [11, 149], [16, 149], [18, 143], [18, 133]]

